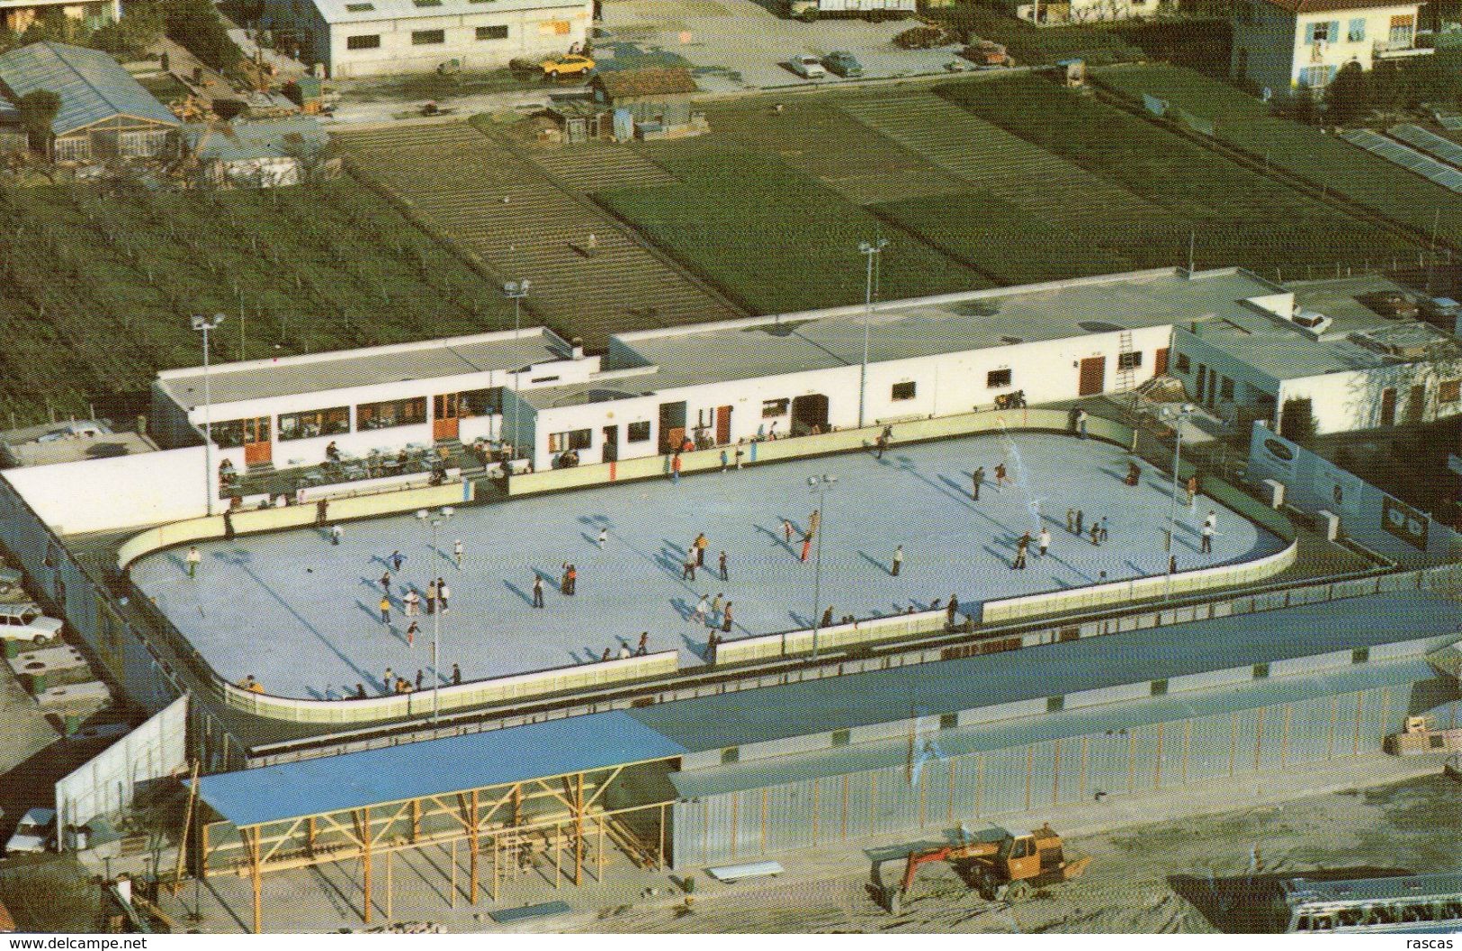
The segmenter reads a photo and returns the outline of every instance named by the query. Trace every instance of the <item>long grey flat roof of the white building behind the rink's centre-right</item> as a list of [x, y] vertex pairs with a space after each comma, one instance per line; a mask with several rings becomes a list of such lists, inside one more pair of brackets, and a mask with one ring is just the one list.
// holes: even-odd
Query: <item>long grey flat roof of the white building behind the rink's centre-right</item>
[[[754, 317], [705, 327], [621, 333], [617, 337], [655, 365], [618, 387], [642, 394], [705, 383], [855, 367], [1015, 343], [1060, 340], [1205, 320], [1246, 310], [1241, 299], [1279, 289], [1238, 269], [1197, 273], [1146, 270], [1044, 285], [974, 291], [779, 317]], [[1297, 335], [1298, 336], [1298, 335]], [[607, 364], [607, 370], [610, 365]], [[582, 384], [531, 390], [538, 408], [598, 402]]]

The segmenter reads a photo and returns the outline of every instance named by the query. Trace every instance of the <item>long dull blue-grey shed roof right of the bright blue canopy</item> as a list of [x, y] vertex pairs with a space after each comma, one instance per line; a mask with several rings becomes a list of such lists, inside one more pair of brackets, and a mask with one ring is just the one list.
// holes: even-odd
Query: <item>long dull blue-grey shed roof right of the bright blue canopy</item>
[[807, 736], [1289, 657], [1456, 635], [1462, 603], [1404, 592], [1126, 631], [1016, 652], [633, 710], [687, 749]]

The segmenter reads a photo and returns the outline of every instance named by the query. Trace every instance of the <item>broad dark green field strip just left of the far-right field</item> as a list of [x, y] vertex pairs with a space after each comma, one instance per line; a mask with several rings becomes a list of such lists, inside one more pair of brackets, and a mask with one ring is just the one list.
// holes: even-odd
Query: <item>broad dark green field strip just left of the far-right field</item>
[[950, 83], [950, 102], [1076, 162], [1154, 205], [1196, 235], [1199, 266], [1260, 273], [1364, 266], [1415, 245], [1209, 149], [1044, 77]]

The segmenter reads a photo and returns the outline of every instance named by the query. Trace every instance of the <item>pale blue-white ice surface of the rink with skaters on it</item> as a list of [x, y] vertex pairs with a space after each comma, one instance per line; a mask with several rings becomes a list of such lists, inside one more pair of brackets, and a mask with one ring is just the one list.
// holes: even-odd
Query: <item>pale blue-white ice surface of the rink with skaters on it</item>
[[[586, 663], [605, 649], [678, 649], [681, 665], [702, 663], [709, 628], [693, 621], [702, 595], [734, 603], [732, 633], [746, 637], [811, 625], [817, 559], [800, 561], [782, 519], [804, 530], [819, 495], [810, 476], [835, 475], [822, 524], [817, 612], [867, 618], [927, 608], [958, 595], [981, 600], [1161, 574], [1171, 484], [1143, 466], [1142, 484], [1123, 484], [1127, 456], [1094, 440], [1054, 434], [999, 434], [611, 485], [541, 498], [461, 508], [431, 546], [430, 529], [411, 516], [346, 523], [338, 546], [314, 529], [200, 545], [203, 562], [187, 577], [184, 549], [136, 562], [132, 577], [202, 652], [213, 669], [240, 681], [254, 675], [266, 692], [338, 697], [364, 684], [382, 691], [386, 668], [430, 684], [436, 618], [423, 611], [421, 635], [406, 643], [401, 597], [446, 578], [450, 611], [442, 619], [443, 678], [452, 663], [466, 681]], [[1013, 485], [993, 485], [1004, 462]], [[975, 466], [987, 470], [980, 501], [969, 497]], [[1199, 498], [1178, 508], [1178, 570], [1249, 561], [1281, 541], [1232, 511]], [[1094, 546], [1066, 532], [1066, 510], [1088, 524], [1105, 517], [1108, 541]], [[1218, 513], [1213, 554], [1199, 554], [1199, 532]], [[1037, 514], [1039, 513], [1039, 514]], [[1016, 539], [1045, 524], [1051, 551], [1031, 548], [1025, 571], [1010, 568]], [[604, 548], [599, 529], [608, 529]], [[706, 568], [681, 580], [686, 548], [709, 541]], [[462, 541], [463, 565], [452, 558]], [[898, 577], [890, 574], [904, 545]], [[382, 624], [380, 578], [393, 551], [405, 555], [390, 577], [392, 616]], [[730, 580], [715, 571], [727, 552]], [[814, 546], [816, 551], [816, 546]], [[564, 562], [577, 567], [577, 592], [558, 592]], [[532, 608], [534, 576], [545, 608]]]

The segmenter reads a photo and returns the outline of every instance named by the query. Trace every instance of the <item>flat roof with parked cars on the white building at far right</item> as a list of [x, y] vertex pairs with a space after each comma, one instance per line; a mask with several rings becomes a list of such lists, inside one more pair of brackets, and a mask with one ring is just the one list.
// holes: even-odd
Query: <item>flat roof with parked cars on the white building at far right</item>
[[[1380, 276], [1303, 280], [1285, 285], [1295, 295], [1295, 305], [1330, 317], [1335, 323], [1316, 340], [1251, 307], [1216, 316], [1194, 324], [1180, 324], [1203, 342], [1218, 346], [1237, 359], [1273, 377], [1298, 380], [1351, 370], [1374, 370], [1412, 362], [1387, 354], [1383, 346], [1423, 346], [1427, 356], [1459, 358], [1462, 345], [1440, 330], [1415, 320], [1389, 320], [1360, 298], [1373, 294], [1408, 294], [1401, 285]], [[1364, 335], [1373, 345], [1358, 342]]]

